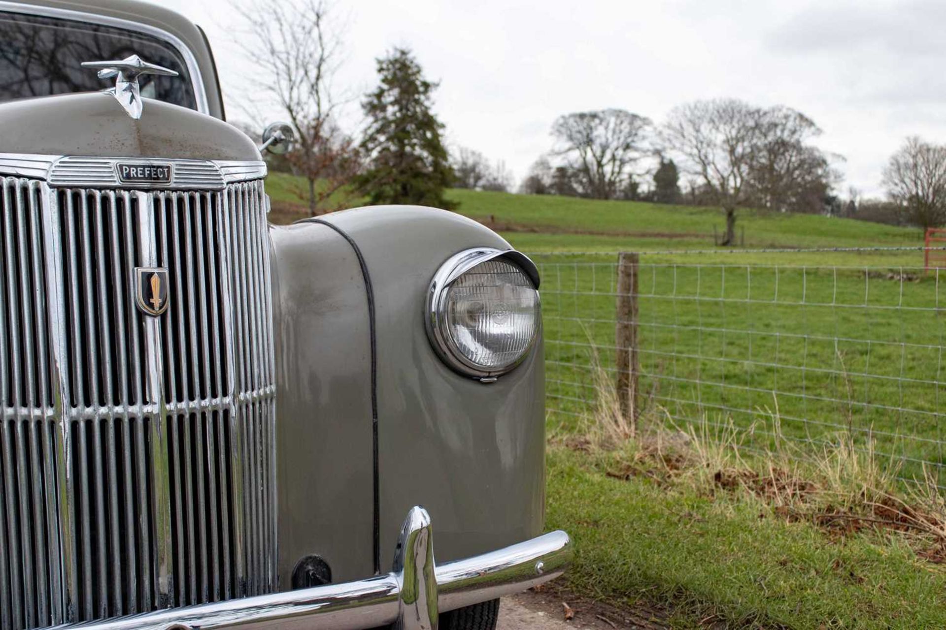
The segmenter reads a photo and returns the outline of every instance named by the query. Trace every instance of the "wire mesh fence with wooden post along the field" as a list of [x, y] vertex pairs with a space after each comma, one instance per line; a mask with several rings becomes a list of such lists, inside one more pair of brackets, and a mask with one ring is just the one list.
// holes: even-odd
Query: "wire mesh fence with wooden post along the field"
[[668, 253], [536, 259], [552, 422], [593, 417], [604, 375], [633, 390], [632, 413], [751, 428], [748, 448], [778, 422], [946, 482], [946, 269]]

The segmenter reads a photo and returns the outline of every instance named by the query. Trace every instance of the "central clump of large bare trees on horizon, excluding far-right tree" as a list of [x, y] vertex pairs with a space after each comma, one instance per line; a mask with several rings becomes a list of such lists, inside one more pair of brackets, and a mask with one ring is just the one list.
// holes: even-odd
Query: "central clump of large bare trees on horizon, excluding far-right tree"
[[722, 207], [730, 245], [738, 208], [832, 212], [839, 158], [811, 144], [820, 132], [798, 111], [734, 98], [680, 105], [659, 126], [625, 110], [569, 113], [522, 191]]

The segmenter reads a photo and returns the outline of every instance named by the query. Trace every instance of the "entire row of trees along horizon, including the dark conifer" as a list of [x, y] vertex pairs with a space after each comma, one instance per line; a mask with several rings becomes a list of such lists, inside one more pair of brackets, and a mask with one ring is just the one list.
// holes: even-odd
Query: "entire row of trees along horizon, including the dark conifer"
[[[239, 2], [239, 0], [235, 0]], [[377, 87], [360, 99], [359, 137], [338, 123], [331, 78], [342, 38], [326, 0], [245, 0], [236, 4], [249, 30], [238, 40], [264, 71], [252, 79], [277, 102], [295, 131], [296, 147], [268, 156], [273, 170], [305, 181], [296, 191], [310, 214], [372, 204], [452, 209], [450, 187], [511, 192], [502, 161], [444, 141], [433, 112], [439, 83], [424, 76], [410, 49], [377, 60]], [[258, 110], [247, 111], [259, 118]], [[245, 126], [251, 133], [254, 126]], [[946, 224], [946, 145], [906, 139], [884, 171], [887, 198], [837, 193], [844, 158], [813, 141], [815, 122], [785, 106], [759, 107], [736, 98], [674, 107], [660, 124], [622, 109], [571, 112], [552, 124], [552, 147], [518, 185], [528, 195], [628, 199], [724, 210], [723, 245], [734, 243], [737, 211], [853, 216], [922, 228]]]

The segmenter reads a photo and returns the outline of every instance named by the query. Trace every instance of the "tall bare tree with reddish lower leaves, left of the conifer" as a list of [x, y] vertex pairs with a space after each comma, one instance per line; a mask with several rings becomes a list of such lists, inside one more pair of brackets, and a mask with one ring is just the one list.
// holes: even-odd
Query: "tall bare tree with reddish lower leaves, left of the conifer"
[[279, 105], [295, 131], [298, 145], [287, 159], [306, 179], [297, 194], [312, 215], [345, 205], [360, 162], [353, 139], [336, 123], [340, 101], [331, 80], [342, 39], [329, 19], [331, 6], [325, 0], [237, 0], [234, 8], [248, 29], [237, 43], [260, 71], [249, 81]]

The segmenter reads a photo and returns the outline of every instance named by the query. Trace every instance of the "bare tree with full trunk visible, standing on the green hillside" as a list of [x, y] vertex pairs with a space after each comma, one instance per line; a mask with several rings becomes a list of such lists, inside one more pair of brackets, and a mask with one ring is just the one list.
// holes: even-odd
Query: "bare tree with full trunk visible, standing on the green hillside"
[[740, 100], [695, 101], [674, 108], [661, 130], [666, 148], [683, 158], [726, 211], [722, 245], [735, 243], [736, 209], [749, 198], [761, 118], [762, 110]]

